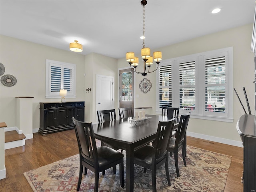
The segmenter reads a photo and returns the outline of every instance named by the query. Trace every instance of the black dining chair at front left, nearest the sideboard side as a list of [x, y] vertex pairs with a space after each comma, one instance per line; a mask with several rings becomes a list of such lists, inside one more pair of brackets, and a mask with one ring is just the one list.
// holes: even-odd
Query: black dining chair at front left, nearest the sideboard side
[[124, 187], [124, 154], [109, 148], [107, 146], [96, 147], [96, 141], [92, 122], [82, 122], [72, 117], [76, 138], [79, 148], [80, 169], [78, 185], [76, 190], [79, 191], [82, 173], [87, 174], [90, 169], [95, 174], [94, 192], [98, 192], [99, 173], [105, 173], [105, 170], [119, 164], [120, 184]]

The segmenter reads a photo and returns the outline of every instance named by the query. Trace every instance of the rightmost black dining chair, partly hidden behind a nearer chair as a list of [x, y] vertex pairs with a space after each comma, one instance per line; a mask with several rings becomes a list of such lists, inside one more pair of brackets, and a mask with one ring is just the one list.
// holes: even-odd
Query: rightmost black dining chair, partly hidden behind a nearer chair
[[175, 161], [177, 177], [180, 177], [179, 166], [178, 166], [178, 151], [180, 151], [181, 149], [182, 149], [182, 158], [183, 158], [184, 166], [185, 167], [187, 166], [186, 159], [185, 159], [185, 153], [186, 153], [185, 152], [185, 148], [186, 148], [185, 136], [186, 136], [189, 118], [190, 118], [190, 113], [180, 116], [180, 122], [178, 125], [178, 129], [176, 131], [175, 138], [171, 137], [169, 148], [168, 148], [168, 151], [170, 152], [170, 156], [172, 156], [172, 153], [174, 153], [174, 161]]

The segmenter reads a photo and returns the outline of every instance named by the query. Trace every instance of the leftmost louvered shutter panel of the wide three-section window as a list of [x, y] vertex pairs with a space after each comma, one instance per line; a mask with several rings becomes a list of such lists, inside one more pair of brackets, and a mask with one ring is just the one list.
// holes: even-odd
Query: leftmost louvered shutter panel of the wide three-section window
[[172, 65], [159, 68], [159, 106], [172, 106]]

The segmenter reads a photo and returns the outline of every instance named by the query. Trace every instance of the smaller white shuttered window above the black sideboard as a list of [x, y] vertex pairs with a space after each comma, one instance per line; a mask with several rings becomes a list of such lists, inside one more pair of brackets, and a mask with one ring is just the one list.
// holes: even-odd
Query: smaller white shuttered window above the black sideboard
[[46, 60], [46, 98], [59, 98], [60, 89], [67, 90], [66, 98], [76, 98], [76, 65]]

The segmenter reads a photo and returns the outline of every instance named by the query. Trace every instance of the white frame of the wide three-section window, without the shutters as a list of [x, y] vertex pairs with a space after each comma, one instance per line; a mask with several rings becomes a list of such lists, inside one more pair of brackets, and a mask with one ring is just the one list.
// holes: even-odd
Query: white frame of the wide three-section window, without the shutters
[[[216, 58], [219, 56], [225, 56], [225, 112], [208, 112], [205, 111], [205, 61], [208, 58]], [[191, 112], [192, 118], [200, 118], [206, 120], [217, 120], [224, 122], [233, 122], [233, 47], [222, 48], [218, 50], [212, 50], [187, 56], [181, 56], [177, 58], [171, 58], [168, 60], [162, 60], [159, 64], [159, 68], [156, 72], [156, 113], [160, 114], [162, 109], [159, 105], [160, 95], [160, 82], [159, 74], [161, 66], [172, 65], [172, 107], [179, 107], [179, 64], [184, 62], [196, 62], [196, 83], [195, 83], [195, 110], [181, 110], [180, 114], [187, 114]], [[220, 85], [218, 85], [220, 86]], [[174, 94], [176, 93], [176, 94]]]

